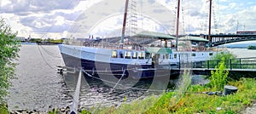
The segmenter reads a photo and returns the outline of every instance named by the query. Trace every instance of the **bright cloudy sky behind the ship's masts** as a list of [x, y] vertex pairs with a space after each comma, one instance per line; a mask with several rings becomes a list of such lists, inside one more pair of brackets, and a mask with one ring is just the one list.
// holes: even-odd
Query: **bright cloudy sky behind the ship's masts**
[[[126, 34], [176, 33], [177, 0], [130, 0], [129, 8]], [[207, 34], [209, 0], [181, 0], [180, 9], [179, 34]], [[19, 37], [120, 36], [124, 11], [125, 0], [0, 0], [0, 17]], [[255, 13], [255, 0], [212, 0], [212, 34], [256, 31]]]

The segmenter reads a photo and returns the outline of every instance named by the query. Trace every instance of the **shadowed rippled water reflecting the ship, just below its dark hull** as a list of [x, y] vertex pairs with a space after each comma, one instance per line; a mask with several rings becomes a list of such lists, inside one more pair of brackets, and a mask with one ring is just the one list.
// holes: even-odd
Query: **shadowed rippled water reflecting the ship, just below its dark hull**
[[[63, 75], [67, 88], [73, 94], [78, 81], [79, 73], [64, 73]], [[106, 76], [108, 77], [108, 76]], [[167, 79], [168, 80], [168, 79]], [[137, 80], [126, 80], [119, 83], [113, 89], [116, 82], [109, 80], [100, 80], [99, 77], [82, 77], [80, 89], [80, 105], [82, 107], [92, 107], [101, 104], [102, 106], [120, 105], [124, 102], [125, 97], [127, 102], [143, 99], [144, 97], [154, 94], [162, 94], [164, 90], [161, 89], [148, 89], [152, 84], [153, 78]], [[133, 84], [136, 82], [136, 84]], [[170, 85], [173, 85], [170, 83]], [[161, 82], [158, 86], [162, 86]], [[169, 86], [171, 87], [171, 86]], [[113, 90], [112, 90], [113, 89]]]

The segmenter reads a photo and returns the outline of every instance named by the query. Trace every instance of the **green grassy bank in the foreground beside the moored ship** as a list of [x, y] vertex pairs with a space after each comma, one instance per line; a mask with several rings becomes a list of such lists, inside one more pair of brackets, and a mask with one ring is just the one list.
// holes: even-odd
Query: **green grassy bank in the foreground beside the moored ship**
[[[180, 100], [173, 97], [175, 92], [164, 93], [160, 96], [150, 96], [144, 100], [135, 100], [130, 104], [124, 103], [119, 107], [98, 108], [94, 113], [239, 113], [256, 100], [256, 80], [241, 78], [231, 81], [229, 85], [236, 86], [236, 94], [227, 96], [198, 94], [211, 91], [207, 86], [189, 86], [187, 93]], [[176, 102], [177, 101], [177, 102]], [[87, 113], [89, 113], [87, 111]]]

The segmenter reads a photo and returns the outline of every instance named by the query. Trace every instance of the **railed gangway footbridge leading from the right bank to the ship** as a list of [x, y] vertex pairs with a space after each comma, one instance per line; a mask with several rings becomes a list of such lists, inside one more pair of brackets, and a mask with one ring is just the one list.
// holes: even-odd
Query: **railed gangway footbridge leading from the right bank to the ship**
[[[211, 71], [216, 71], [220, 60], [207, 60], [195, 63], [178, 63], [172, 66], [171, 74], [179, 74], [180, 71], [189, 70], [195, 75], [211, 75]], [[224, 66], [229, 71], [229, 77], [256, 77], [256, 57], [238, 58], [225, 60]]]

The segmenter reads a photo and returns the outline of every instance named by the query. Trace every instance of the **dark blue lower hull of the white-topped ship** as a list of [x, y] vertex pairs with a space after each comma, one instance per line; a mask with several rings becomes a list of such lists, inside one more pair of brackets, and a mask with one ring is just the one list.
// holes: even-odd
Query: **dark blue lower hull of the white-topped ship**
[[105, 75], [114, 75], [116, 77], [120, 77], [122, 73], [125, 71], [126, 77], [133, 78], [149, 78], [154, 76], [170, 76], [169, 70], [147, 70], [147, 71], [137, 71], [136, 68], [151, 68], [151, 65], [140, 66], [140, 65], [126, 65], [126, 64], [113, 64], [113, 63], [105, 63], [105, 62], [96, 62], [92, 60], [84, 60], [73, 57], [71, 55], [62, 54], [62, 58], [65, 62], [65, 65], [68, 67], [80, 68], [82, 67], [85, 71], [90, 73], [98, 73]]

